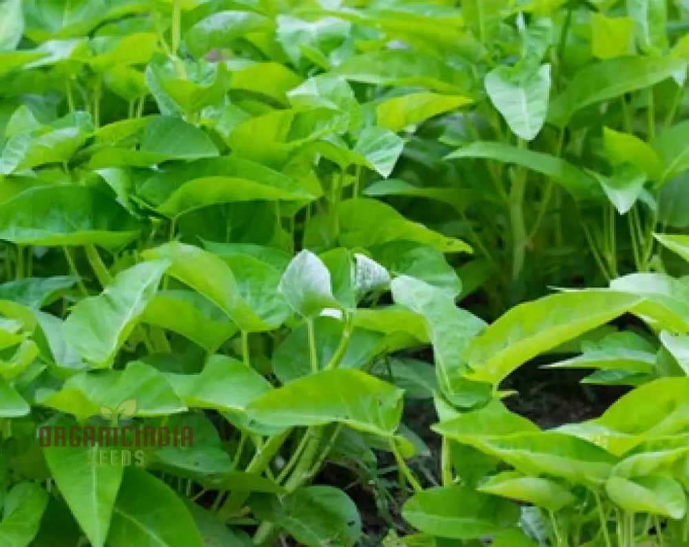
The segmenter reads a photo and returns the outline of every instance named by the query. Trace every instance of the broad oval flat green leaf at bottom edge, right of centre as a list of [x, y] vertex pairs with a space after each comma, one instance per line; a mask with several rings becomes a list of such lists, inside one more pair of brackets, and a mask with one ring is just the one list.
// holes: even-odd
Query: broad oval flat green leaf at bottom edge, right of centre
[[402, 517], [422, 532], [452, 539], [480, 539], [516, 526], [519, 506], [465, 486], [418, 492], [402, 508]]

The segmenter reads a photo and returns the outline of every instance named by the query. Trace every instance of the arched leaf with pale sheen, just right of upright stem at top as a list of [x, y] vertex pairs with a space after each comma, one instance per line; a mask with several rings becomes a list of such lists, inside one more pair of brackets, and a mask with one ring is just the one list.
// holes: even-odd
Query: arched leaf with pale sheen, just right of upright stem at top
[[218, 12], [201, 19], [185, 34], [189, 51], [200, 57], [214, 48], [227, 48], [232, 41], [253, 32], [271, 32], [271, 19], [254, 12]]

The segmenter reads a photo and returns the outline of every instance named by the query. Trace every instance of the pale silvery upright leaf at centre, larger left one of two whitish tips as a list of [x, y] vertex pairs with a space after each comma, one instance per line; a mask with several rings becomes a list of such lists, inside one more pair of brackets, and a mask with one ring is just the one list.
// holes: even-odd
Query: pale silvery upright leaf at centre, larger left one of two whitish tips
[[330, 272], [318, 256], [307, 250], [289, 262], [279, 290], [291, 308], [305, 318], [313, 318], [326, 308], [340, 308], [333, 296]]

